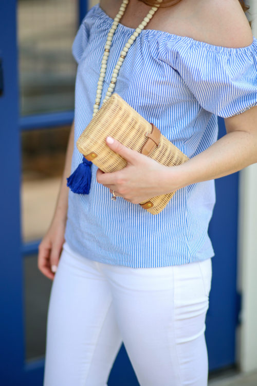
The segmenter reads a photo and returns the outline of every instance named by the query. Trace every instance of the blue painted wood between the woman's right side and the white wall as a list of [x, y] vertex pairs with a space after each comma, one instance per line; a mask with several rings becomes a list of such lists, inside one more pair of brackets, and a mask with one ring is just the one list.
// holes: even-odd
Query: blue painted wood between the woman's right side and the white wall
[[[225, 133], [224, 120], [219, 119], [219, 137]], [[216, 204], [209, 226], [215, 256], [206, 323], [210, 370], [235, 363], [238, 172], [216, 179], [215, 185]]]

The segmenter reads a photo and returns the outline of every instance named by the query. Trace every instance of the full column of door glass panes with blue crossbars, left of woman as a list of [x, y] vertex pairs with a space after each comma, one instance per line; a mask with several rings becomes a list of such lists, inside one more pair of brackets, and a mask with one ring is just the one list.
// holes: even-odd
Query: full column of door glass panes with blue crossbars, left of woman
[[[71, 46], [78, 29], [78, 12], [76, 0], [17, 0], [27, 363], [44, 359], [45, 354], [52, 281], [39, 271], [36, 252], [49, 227], [64, 168], [74, 110], [77, 63]], [[62, 124], [64, 121], [67, 124]]]

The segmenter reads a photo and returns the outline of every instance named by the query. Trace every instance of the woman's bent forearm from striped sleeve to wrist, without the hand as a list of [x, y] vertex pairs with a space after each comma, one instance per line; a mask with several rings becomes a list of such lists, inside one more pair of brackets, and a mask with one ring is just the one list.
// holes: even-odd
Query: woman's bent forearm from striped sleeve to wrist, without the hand
[[227, 134], [178, 167], [179, 187], [227, 176], [257, 162], [257, 106], [225, 119]]

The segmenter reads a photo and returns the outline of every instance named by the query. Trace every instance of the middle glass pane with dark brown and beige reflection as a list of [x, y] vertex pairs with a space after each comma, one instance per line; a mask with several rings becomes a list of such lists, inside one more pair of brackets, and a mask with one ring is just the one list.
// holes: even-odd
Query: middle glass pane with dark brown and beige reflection
[[59, 192], [70, 126], [22, 133], [23, 241], [46, 233]]

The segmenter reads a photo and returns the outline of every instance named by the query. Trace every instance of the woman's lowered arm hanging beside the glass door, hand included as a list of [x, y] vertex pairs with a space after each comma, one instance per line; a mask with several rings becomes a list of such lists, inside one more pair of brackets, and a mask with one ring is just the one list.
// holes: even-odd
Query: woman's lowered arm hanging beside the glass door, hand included
[[68, 208], [68, 191], [66, 178], [70, 174], [71, 158], [74, 148], [74, 121], [71, 125], [69, 134], [68, 146], [66, 151], [66, 159], [62, 181], [60, 185], [59, 195], [57, 198], [56, 209], [54, 210], [53, 218], [49, 229], [39, 245], [38, 268], [49, 279], [54, 277], [54, 268], [58, 266], [62, 246], [64, 243], [64, 232], [67, 219]]

